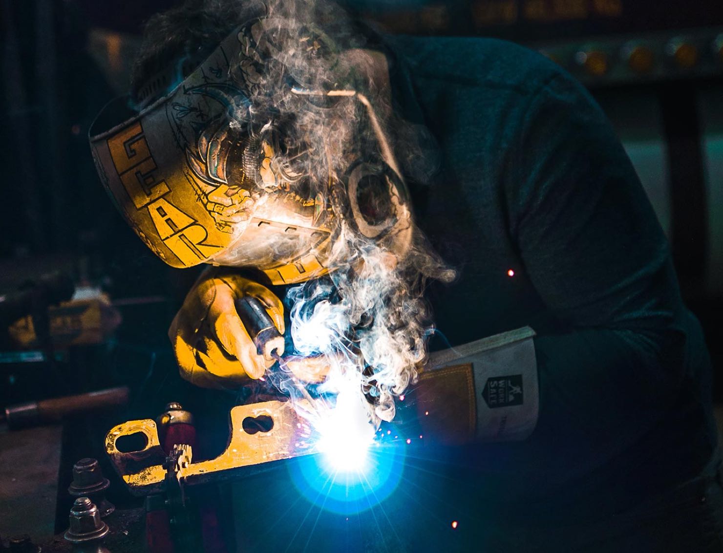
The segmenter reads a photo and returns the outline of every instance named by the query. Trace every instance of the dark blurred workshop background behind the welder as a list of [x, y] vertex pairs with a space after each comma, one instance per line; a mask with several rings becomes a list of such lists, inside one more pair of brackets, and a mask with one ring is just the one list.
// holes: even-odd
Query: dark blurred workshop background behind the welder
[[[106, 197], [87, 143], [95, 114], [127, 91], [142, 23], [178, 3], [0, 1], [6, 194], [0, 202], [0, 294], [12, 299], [0, 301], [0, 408], [107, 387], [130, 389], [116, 411], [78, 416], [45, 435], [46, 443], [63, 444], [48, 458], [49, 467], [68, 468], [81, 456], [102, 458], [102, 436], [119, 421], [119, 412], [122, 420], [144, 418], [170, 400], [200, 401], [176, 377], [166, 338], [199, 270], [171, 269], [137, 239]], [[522, 43], [589, 87], [615, 125], [667, 233], [683, 295], [706, 331], [714, 397], [723, 403], [723, 3], [348, 0], [346, 5], [390, 33]], [[71, 296], [71, 303], [48, 311], [48, 304]], [[25, 315], [30, 317], [14, 322]], [[0, 434], [0, 449], [9, 435]], [[10, 476], [2, 478], [0, 495], [22, 491], [9, 488]], [[52, 490], [64, 489], [70, 478], [69, 469], [61, 470], [60, 484], [48, 488], [48, 506], [56, 502]], [[61, 503], [58, 513], [67, 517]]]

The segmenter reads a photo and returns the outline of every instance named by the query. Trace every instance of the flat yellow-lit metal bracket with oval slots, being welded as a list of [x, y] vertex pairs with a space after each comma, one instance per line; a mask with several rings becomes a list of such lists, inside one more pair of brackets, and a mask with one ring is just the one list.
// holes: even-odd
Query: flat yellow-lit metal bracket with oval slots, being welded
[[[312, 411], [314, 406], [307, 408]], [[268, 432], [251, 434], [244, 430], [244, 419], [259, 417], [269, 417], [273, 421], [273, 427]], [[231, 409], [229, 428], [226, 450], [215, 459], [191, 463], [184, 468], [184, 484], [231, 479], [237, 469], [317, 453], [307, 440], [307, 424], [288, 402], [267, 401], [236, 406]], [[142, 450], [123, 453], [116, 447], [119, 438], [138, 432], [144, 434], [147, 440]], [[106, 435], [106, 453], [132, 494], [140, 496], [161, 492], [166, 476], [166, 453], [158, 439], [155, 421], [142, 419], [115, 426]]]

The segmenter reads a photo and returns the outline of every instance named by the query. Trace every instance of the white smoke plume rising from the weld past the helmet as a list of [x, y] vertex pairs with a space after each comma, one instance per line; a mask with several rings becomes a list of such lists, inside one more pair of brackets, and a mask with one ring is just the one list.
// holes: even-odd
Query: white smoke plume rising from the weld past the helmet
[[[450, 280], [454, 273], [412, 220], [404, 223], [410, 227], [407, 231], [382, 240], [365, 236], [351, 216], [345, 185], [351, 164], [383, 157], [378, 132], [385, 134], [383, 141], [391, 140], [392, 124], [407, 129], [396, 137], [408, 135], [410, 128], [394, 118], [386, 83], [375, 80], [373, 69], [365, 67], [371, 64], [360, 53], [366, 38], [333, 4], [279, 1], [267, 9], [268, 17], [252, 27], [248, 59], [239, 68], [244, 80], [253, 83], [252, 111], [261, 117], [273, 113], [281, 132], [272, 163], [286, 173], [307, 176], [296, 179], [299, 186], [303, 182], [311, 187], [304, 193], [329, 194], [332, 175], [330, 195], [339, 221], [329, 274], [288, 291], [291, 335], [299, 354], [328, 356], [328, 384], [336, 387], [332, 391], [351, 383], [367, 395], [373, 404], [370, 419], [378, 425], [393, 419], [394, 396], [416, 380], [417, 368], [427, 358], [432, 322], [422, 297], [424, 282]], [[262, 52], [270, 58], [263, 59]], [[377, 119], [370, 120], [364, 106], [352, 98], [329, 101], [299, 95], [299, 90], [354, 91], [368, 100]], [[268, 122], [261, 119], [258, 124]], [[406, 158], [414, 150], [399, 140], [393, 147], [404, 150]], [[393, 160], [387, 163], [395, 165]], [[374, 197], [368, 200], [373, 213], [390, 209], [382, 196], [378, 202]]]

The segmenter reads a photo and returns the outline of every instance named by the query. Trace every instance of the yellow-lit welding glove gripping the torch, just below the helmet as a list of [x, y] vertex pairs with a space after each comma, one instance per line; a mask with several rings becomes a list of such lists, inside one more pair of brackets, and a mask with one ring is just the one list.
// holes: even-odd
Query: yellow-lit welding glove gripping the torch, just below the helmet
[[257, 298], [283, 334], [283, 305], [278, 297], [233, 270], [212, 267], [189, 291], [168, 329], [185, 380], [201, 387], [235, 387], [249, 377], [262, 377], [274, 364], [274, 359], [258, 355], [236, 312], [235, 301], [244, 296]]

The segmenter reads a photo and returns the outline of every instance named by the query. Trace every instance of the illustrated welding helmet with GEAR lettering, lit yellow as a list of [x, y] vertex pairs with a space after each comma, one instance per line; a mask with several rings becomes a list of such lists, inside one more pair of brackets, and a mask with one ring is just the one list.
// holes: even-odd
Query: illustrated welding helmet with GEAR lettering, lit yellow
[[108, 193], [168, 265], [252, 267], [275, 284], [301, 282], [328, 272], [345, 229], [405, 252], [408, 194], [372, 101], [333, 79], [315, 88], [309, 74], [320, 73], [317, 51], [330, 40], [288, 29], [252, 20], [170, 93], [154, 99], [169, 87], [162, 75], [135, 108], [119, 98], [91, 127]]

